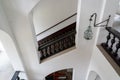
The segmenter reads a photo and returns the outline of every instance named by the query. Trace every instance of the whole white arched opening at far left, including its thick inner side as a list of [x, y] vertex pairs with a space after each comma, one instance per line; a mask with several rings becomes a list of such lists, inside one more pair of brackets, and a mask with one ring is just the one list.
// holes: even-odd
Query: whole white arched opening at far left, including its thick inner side
[[24, 71], [24, 67], [13, 38], [3, 30], [0, 30], [0, 49], [0, 64], [3, 70], [0, 80], [11, 80], [14, 72]]

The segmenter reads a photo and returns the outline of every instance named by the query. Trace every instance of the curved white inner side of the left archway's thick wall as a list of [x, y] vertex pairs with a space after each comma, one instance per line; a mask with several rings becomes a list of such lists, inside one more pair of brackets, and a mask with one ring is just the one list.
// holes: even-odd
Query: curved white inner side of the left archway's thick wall
[[0, 30], [0, 41], [14, 70], [24, 71], [19, 52], [11, 36], [9, 36], [5, 31]]

